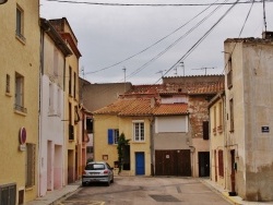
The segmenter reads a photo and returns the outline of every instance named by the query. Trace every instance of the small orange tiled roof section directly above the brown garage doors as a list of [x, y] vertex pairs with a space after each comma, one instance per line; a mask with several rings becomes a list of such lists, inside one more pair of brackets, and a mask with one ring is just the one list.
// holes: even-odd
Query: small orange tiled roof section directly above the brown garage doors
[[162, 104], [155, 108], [155, 116], [170, 116], [170, 114], [185, 114], [188, 113], [187, 104]]

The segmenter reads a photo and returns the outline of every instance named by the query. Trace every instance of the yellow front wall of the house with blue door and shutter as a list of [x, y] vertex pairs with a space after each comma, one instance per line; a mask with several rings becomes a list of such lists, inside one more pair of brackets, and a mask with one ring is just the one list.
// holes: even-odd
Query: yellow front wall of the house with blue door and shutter
[[[132, 138], [133, 120], [144, 120], [145, 142], [134, 142]], [[117, 145], [108, 145], [108, 129], [119, 129], [119, 134], [124, 133], [126, 140], [130, 140], [130, 176], [135, 174], [135, 153], [144, 152], [145, 176], [151, 174], [151, 150], [150, 150], [150, 120], [146, 117], [133, 118], [116, 116], [94, 116], [94, 160], [104, 160], [103, 155], [107, 155], [107, 161], [114, 167], [114, 161], [118, 160]], [[117, 170], [116, 170], [117, 172]]]

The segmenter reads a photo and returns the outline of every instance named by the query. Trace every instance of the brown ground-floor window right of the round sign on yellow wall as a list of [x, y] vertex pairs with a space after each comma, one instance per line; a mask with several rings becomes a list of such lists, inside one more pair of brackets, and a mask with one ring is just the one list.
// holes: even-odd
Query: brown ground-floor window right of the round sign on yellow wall
[[26, 143], [26, 164], [25, 164], [25, 186], [35, 184], [35, 156], [36, 145]]

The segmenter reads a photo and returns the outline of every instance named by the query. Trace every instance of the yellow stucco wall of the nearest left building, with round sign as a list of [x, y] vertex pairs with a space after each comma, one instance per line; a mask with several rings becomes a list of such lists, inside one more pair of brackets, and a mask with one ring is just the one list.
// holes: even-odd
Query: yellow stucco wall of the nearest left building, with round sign
[[[15, 37], [16, 3], [24, 11], [25, 43]], [[0, 5], [0, 114], [3, 118], [0, 123], [0, 185], [16, 183], [16, 191], [25, 190], [26, 152], [19, 150], [20, 128], [26, 129], [26, 143], [36, 145], [36, 158], [38, 156], [38, 11], [39, 1], [37, 0], [9, 0]], [[24, 76], [26, 113], [14, 111], [15, 72]], [[10, 75], [10, 94], [5, 93], [7, 74]], [[25, 202], [34, 200], [37, 195], [37, 161], [35, 164], [35, 185], [25, 190]]]

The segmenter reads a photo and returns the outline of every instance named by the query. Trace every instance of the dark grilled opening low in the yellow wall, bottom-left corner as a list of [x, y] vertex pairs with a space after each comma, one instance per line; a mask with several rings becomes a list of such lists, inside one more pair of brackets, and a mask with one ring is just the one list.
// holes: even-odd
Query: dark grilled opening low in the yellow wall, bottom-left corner
[[16, 204], [16, 184], [10, 183], [0, 185], [0, 205]]

